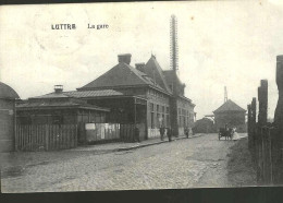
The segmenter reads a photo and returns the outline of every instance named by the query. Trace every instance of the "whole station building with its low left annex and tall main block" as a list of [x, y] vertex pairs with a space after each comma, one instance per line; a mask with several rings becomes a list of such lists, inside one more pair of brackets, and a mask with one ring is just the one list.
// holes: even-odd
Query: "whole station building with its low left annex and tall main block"
[[[53, 93], [22, 101], [19, 122], [72, 121], [82, 123], [82, 131], [86, 122], [136, 124], [140, 140], [160, 136], [161, 126], [172, 128], [174, 135], [184, 134], [185, 127], [192, 130], [195, 105], [185, 97], [185, 84], [176, 72], [163, 71], [155, 56], [134, 68], [131, 57], [119, 55], [118, 64], [76, 91], [63, 92], [59, 86]], [[37, 119], [40, 114], [49, 117]]]

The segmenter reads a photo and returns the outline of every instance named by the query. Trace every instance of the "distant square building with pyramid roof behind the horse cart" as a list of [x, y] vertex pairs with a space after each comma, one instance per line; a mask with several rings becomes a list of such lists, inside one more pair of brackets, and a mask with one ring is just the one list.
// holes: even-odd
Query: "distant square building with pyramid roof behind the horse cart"
[[246, 132], [246, 110], [236, 105], [231, 99], [226, 100], [222, 106], [213, 111], [216, 128], [236, 128], [237, 132]]

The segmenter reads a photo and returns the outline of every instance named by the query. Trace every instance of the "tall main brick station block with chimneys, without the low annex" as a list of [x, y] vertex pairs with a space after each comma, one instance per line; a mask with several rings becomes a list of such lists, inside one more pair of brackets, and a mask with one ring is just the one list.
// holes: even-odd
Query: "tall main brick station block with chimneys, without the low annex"
[[172, 128], [175, 135], [183, 134], [185, 127], [192, 129], [195, 105], [184, 96], [185, 85], [176, 72], [163, 71], [155, 56], [133, 68], [131, 57], [119, 55], [116, 65], [77, 91], [120, 92], [116, 97], [87, 100], [110, 108], [108, 120], [111, 122], [138, 123], [144, 139], [159, 136], [162, 124]]

